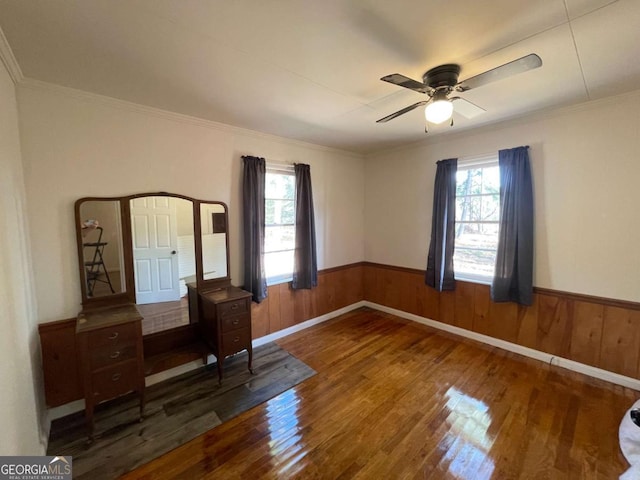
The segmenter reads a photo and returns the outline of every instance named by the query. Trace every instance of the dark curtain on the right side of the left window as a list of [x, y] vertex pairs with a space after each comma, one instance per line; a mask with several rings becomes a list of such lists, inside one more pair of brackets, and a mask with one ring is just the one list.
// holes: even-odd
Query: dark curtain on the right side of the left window
[[313, 214], [313, 192], [309, 165], [297, 163], [296, 176], [296, 249], [293, 259], [292, 288], [318, 286], [316, 256], [316, 223]]

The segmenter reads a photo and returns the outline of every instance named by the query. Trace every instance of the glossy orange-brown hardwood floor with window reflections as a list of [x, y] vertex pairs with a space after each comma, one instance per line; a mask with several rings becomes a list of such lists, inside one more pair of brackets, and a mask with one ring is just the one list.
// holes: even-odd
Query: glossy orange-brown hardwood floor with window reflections
[[127, 479], [613, 479], [638, 392], [361, 309], [278, 342], [318, 374]]

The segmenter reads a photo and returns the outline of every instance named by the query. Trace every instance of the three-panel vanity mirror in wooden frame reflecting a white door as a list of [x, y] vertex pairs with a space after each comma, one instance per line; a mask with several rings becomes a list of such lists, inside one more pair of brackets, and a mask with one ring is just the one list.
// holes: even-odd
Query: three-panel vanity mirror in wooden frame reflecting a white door
[[150, 334], [197, 321], [187, 285], [230, 285], [222, 202], [161, 192], [82, 198], [75, 212], [84, 310], [136, 304]]

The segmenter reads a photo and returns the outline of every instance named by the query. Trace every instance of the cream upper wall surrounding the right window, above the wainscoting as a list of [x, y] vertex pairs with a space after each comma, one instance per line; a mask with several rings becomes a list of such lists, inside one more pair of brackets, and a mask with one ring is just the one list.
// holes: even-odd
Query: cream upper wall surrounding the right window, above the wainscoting
[[534, 284], [640, 301], [640, 92], [369, 156], [365, 258], [424, 269], [435, 162], [529, 145]]

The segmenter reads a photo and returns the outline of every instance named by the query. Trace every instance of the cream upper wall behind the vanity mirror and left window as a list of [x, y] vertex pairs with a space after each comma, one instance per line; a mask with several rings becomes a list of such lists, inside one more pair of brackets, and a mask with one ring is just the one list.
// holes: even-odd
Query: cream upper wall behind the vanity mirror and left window
[[362, 157], [29, 82], [18, 90], [40, 322], [80, 308], [73, 203], [167, 191], [229, 206], [231, 274], [242, 284], [241, 156], [311, 165], [318, 267], [364, 259]]

